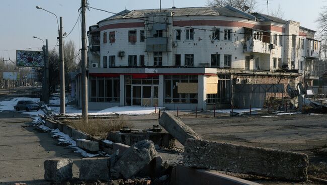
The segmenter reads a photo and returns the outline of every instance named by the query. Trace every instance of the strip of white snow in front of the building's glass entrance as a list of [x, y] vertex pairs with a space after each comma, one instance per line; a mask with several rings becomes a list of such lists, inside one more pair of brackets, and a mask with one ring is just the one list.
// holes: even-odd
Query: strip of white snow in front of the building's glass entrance
[[[163, 107], [157, 107], [157, 111], [159, 109], [163, 109]], [[98, 111], [98, 113], [116, 113], [119, 115], [144, 115], [154, 113], [154, 107], [141, 107], [141, 106], [124, 106], [124, 107], [111, 107], [102, 111]]]

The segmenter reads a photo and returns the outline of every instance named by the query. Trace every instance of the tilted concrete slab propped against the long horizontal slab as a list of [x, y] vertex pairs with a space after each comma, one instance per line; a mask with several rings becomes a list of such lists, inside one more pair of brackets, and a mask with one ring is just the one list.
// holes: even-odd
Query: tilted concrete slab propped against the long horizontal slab
[[197, 133], [172, 113], [163, 112], [160, 116], [159, 124], [183, 145], [188, 138], [200, 139]]

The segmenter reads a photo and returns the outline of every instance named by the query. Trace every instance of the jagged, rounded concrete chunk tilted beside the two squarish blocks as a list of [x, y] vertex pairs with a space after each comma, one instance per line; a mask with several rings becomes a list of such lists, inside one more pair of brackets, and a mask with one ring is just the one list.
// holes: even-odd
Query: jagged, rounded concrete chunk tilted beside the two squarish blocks
[[149, 140], [139, 141], [130, 146], [114, 164], [114, 171], [117, 171], [125, 178], [131, 178], [146, 166], [157, 152], [153, 142]]

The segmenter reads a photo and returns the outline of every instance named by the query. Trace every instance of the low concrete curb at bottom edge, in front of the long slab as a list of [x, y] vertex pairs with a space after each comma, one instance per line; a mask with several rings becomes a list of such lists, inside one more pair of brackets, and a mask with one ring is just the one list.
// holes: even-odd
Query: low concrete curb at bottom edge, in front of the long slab
[[259, 185], [259, 183], [225, 175], [217, 171], [177, 165], [171, 174], [171, 185]]

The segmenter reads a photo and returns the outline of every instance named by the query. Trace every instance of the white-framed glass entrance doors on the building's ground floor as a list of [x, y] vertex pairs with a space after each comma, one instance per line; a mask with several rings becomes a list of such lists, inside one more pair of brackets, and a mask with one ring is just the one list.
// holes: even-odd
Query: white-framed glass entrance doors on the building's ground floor
[[131, 106], [158, 105], [158, 88], [158, 85], [132, 85]]

